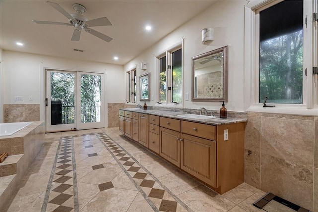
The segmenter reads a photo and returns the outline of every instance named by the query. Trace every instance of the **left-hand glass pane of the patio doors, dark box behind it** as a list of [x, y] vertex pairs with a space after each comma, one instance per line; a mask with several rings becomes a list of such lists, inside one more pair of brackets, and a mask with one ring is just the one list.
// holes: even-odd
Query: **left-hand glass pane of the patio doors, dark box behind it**
[[51, 125], [74, 123], [74, 78], [72, 73], [51, 72]]

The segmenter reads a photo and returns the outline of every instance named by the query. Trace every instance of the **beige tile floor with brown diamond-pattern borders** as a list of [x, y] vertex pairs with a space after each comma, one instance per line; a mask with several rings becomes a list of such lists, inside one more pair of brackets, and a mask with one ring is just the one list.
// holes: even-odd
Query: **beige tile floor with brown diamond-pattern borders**
[[264, 212], [252, 205], [264, 194], [245, 183], [217, 194], [103, 128], [46, 134], [7, 211]]

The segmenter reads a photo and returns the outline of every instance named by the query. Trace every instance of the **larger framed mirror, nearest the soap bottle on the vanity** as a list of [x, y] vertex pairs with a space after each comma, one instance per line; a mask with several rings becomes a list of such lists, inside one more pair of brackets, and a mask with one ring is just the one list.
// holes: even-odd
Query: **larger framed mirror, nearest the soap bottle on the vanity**
[[192, 58], [192, 101], [228, 101], [228, 46]]

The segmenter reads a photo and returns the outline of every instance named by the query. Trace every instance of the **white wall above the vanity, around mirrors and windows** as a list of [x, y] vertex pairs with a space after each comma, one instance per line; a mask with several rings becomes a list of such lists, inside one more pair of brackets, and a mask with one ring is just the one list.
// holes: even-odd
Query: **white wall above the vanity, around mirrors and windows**
[[[243, 0], [218, 1], [207, 8], [201, 14], [191, 19], [154, 46], [138, 55], [129, 63], [125, 64], [125, 71], [137, 64], [138, 77], [146, 72], [151, 72], [151, 95], [154, 100], [148, 103], [156, 105], [158, 101], [158, 83], [156, 80], [155, 57], [157, 54], [167, 50], [169, 46], [176, 44], [185, 38], [184, 44], [184, 93], [189, 93], [189, 101], [184, 102], [185, 108], [219, 109], [221, 103], [213, 102], [191, 102], [191, 58], [193, 56], [229, 46], [228, 52], [228, 110], [244, 110], [244, 5]], [[173, 21], [173, 20], [172, 20]], [[201, 43], [201, 30], [203, 28], [214, 28], [214, 41], [209, 45]], [[141, 62], [147, 62], [147, 70], [141, 70]], [[137, 94], [139, 99], [139, 93]], [[140, 103], [137, 101], [137, 103]]]

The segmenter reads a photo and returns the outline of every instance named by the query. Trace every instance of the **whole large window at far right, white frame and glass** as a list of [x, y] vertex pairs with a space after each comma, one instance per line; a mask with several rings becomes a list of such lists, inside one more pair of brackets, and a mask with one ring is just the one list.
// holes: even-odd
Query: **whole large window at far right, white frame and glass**
[[[244, 9], [245, 110], [317, 113], [317, 0], [249, 1]], [[315, 104], [315, 106], [314, 106]], [[260, 107], [259, 107], [260, 106]], [[259, 108], [258, 108], [259, 107]], [[258, 108], [258, 109], [257, 109]], [[281, 109], [280, 109], [281, 108]], [[283, 108], [291, 108], [286, 111]]]

